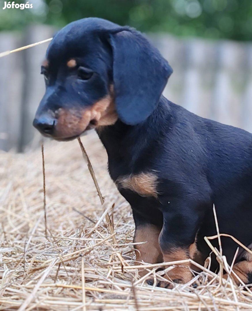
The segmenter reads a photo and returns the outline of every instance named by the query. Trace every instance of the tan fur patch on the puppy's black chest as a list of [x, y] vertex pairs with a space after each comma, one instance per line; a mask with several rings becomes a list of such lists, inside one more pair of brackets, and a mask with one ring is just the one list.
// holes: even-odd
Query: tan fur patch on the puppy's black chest
[[124, 188], [138, 193], [142, 197], [157, 198], [158, 177], [153, 173], [140, 173], [119, 177], [116, 180], [118, 188]]

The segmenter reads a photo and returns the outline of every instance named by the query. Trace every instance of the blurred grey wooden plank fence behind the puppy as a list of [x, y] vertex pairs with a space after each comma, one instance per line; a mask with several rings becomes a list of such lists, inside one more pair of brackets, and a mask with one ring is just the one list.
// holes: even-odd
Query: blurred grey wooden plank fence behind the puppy
[[[32, 26], [0, 33], [0, 52], [50, 38]], [[173, 67], [164, 95], [186, 109], [252, 132], [252, 43], [179, 39], [150, 34]], [[0, 58], [0, 149], [24, 150], [38, 133], [32, 120], [44, 93], [40, 64], [48, 43]]]

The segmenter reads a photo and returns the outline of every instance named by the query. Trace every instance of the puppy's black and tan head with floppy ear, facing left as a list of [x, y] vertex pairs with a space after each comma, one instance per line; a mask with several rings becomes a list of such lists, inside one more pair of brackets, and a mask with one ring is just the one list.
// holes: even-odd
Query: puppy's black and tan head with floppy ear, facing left
[[69, 140], [118, 118], [143, 122], [172, 69], [138, 31], [85, 18], [54, 36], [41, 73], [46, 92], [33, 125], [45, 136]]

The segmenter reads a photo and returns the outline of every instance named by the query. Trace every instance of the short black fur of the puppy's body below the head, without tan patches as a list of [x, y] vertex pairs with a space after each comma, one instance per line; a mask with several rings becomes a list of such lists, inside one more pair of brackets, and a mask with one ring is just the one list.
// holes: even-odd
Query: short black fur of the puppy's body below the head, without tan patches
[[[142, 171], [157, 174], [158, 200], [129, 190], [120, 192], [139, 215], [139, 223], [142, 220], [162, 226], [162, 215], [169, 219], [164, 242], [167, 247], [188, 246], [198, 232], [198, 249], [207, 257], [209, 248], [203, 238], [216, 234], [213, 204], [220, 232], [247, 246], [251, 243], [249, 132], [201, 118], [162, 97], [144, 123], [132, 127], [118, 121], [105, 128], [100, 139], [114, 181]], [[237, 244], [222, 238], [222, 248], [231, 262]]]

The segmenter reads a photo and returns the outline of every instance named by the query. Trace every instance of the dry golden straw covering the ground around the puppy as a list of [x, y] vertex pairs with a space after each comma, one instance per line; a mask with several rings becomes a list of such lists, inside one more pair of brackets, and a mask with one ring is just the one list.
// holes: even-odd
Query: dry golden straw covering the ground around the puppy
[[[105, 203], [77, 140], [46, 143], [46, 234], [41, 150], [0, 153], [0, 310], [252, 310], [250, 290], [207, 269], [191, 282], [197, 288], [140, 279], [130, 207], [110, 180], [96, 134], [82, 142]], [[156, 266], [148, 265], [149, 275], [161, 278]]]

